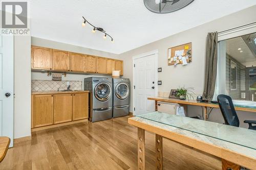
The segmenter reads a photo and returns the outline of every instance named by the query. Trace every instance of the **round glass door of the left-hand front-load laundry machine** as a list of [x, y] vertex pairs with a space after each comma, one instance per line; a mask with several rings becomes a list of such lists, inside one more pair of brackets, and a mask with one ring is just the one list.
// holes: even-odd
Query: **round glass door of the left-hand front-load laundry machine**
[[101, 102], [105, 102], [111, 97], [111, 87], [108, 83], [101, 82], [96, 85], [94, 89], [94, 95], [96, 99]]

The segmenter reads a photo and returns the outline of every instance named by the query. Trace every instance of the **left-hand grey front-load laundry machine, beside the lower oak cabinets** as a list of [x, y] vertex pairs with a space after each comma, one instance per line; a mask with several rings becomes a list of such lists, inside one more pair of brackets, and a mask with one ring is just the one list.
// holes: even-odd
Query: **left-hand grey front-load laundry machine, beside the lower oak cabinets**
[[97, 122], [112, 118], [112, 78], [90, 77], [84, 79], [84, 90], [90, 90], [89, 120]]

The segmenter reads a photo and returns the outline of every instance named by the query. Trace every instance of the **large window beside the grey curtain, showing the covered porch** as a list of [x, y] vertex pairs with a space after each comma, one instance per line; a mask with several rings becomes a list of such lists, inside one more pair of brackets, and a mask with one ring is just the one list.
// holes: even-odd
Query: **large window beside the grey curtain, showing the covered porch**
[[256, 101], [256, 33], [218, 42], [215, 99], [227, 94], [232, 100]]

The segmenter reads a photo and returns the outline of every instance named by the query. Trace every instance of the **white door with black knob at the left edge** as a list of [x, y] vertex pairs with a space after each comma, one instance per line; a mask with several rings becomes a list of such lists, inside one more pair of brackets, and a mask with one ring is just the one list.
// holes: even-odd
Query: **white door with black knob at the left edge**
[[0, 136], [13, 147], [13, 36], [0, 35]]

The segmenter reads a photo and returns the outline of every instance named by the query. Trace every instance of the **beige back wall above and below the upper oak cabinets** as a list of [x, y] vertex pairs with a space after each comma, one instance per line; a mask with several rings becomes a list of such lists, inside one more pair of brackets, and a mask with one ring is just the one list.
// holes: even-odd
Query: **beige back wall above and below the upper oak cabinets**
[[[95, 55], [95, 56], [100, 56], [100, 57], [118, 59], [117, 54], [102, 52], [102, 51], [93, 50], [90, 48], [85, 48], [85, 47], [81, 47], [81, 46], [41, 39], [41, 38], [37, 38], [37, 37], [31, 37], [31, 44], [49, 47], [49, 48], [55, 48], [58, 50], [75, 52], [75, 53], [90, 54], [90, 55]], [[67, 77], [62, 77], [62, 80], [67, 80], [67, 81], [69, 81], [69, 80], [76, 81], [77, 80], [77, 81], [82, 81], [82, 83], [83, 83], [84, 78], [92, 77], [92, 76], [94, 76], [94, 77], [110, 77], [108, 75], [100, 75], [100, 74], [67, 74]], [[47, 77], [46, 72], [34, 72], [33, 71], [31, 74], [31, 79], [32, 80], [51, 80], [52, 77]], [[82, 85], [82, 88], [83, 88], [83, 85]]]

